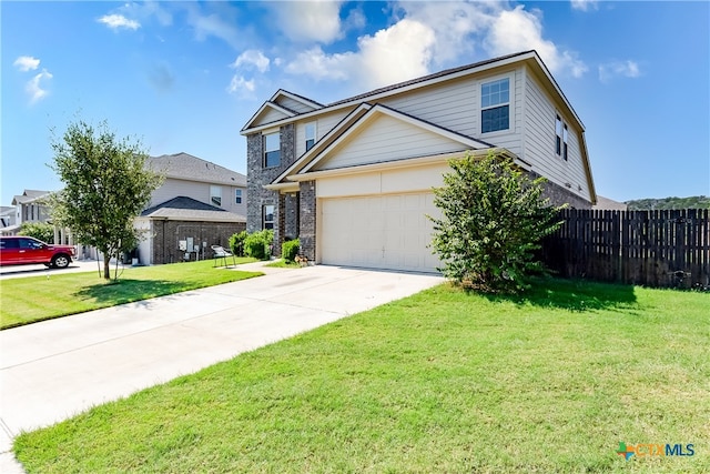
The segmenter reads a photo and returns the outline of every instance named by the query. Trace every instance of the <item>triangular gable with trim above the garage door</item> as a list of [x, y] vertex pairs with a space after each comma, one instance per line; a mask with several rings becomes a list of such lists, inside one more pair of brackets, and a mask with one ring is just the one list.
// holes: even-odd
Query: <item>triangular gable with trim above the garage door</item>
[[382, 104], [372, 107], [301, 170], [333, 170], [493, 148]]

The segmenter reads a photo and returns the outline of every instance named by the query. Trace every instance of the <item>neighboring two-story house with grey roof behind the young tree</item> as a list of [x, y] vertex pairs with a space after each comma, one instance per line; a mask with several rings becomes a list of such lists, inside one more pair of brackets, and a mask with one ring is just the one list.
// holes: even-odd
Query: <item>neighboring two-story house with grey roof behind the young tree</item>
[[151, 157], [148, 168], [165, 177], [135, 220], [145, 231], [142, 264], [212, 258], [246, 228], [246, 177], [187, 153]]

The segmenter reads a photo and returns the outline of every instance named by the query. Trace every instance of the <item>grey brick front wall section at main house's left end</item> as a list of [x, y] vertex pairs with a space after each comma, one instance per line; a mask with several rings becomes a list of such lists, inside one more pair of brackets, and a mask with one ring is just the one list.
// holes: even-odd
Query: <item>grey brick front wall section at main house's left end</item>
[[[264, 205], [273, 204], [275, 206], [274, 215], [274, 254], [281, 255], [281, 244], [286, 235], [282, 235], [280, 229], [283, 226], [277, 223], [285, 223], [287, 218], [281, 215], [281, 209], [285, 209], [286, 202], [281, 201], [278, 191], [270, 191], [264, 189], [264, 184], [270, 184], [276, 177], [283, 173], [296, 160], [296, 140], [295, 127], [293, 123], [284, 125], [280, 129], [281, 141], [281, 163], [278, 167], [264, 168], [263, 161], [263, 139], [261, 133], [254, 133], [246, 137], [246, 230], [256, 232], [262, 229], [262, 209]], [[292, 235], [288, 235], [292, 236]]]

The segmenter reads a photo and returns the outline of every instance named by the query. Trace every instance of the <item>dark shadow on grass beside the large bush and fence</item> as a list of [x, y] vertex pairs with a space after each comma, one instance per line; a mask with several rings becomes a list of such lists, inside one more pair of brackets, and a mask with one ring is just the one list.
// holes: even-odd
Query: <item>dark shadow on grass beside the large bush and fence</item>
[[585, 280], [538, 278], [531, 288], [514, 295], [486, 294], [490, 301], [510, 301], [516, 304], [531, 304], [569, 311], [635, 309], [636, 295], [632, 285], [597, 283]]

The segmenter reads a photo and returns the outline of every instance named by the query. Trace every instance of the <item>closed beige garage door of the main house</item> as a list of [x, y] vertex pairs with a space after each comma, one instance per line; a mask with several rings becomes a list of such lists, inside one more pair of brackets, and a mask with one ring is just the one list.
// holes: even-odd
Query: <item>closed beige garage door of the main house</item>
[[321, 261], [325, 264], [435, 272], [427, 246], [440, 215], [432, 193], [323, 199]]

